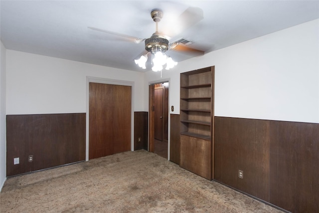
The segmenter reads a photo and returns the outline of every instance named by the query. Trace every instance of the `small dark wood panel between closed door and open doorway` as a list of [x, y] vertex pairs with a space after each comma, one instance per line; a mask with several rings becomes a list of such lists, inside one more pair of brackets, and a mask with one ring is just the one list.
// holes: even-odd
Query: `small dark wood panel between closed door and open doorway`
[[148, 112], [134, 112], [134, 150], [139, 149], [148, 150]]

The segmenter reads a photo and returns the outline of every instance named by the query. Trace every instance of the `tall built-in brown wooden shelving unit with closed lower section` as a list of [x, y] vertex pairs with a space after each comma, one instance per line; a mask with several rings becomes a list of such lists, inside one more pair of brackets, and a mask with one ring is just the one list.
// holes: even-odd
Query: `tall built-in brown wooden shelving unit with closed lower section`
[[180, 166], [212, 179], [214, 67], [180, 74]]

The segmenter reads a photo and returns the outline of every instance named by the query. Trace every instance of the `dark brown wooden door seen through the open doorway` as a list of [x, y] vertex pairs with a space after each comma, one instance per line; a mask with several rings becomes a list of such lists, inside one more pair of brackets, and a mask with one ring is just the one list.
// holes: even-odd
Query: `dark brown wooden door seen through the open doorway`
[[155, 88], [155, 117], [154, 117], [154, 138], [157, 140], [163, 140], [163, 99], [164, 87]]

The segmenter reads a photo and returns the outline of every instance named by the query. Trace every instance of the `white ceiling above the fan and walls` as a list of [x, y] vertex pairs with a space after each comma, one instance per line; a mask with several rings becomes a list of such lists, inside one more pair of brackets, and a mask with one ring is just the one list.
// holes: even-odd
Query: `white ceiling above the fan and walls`
[[[181, 23], [175, 20], [189, 7], [202, 11], [203, 19], [178, 32]], [[205, 53], [319, 18], [318, 0], [1, 0], [0, 38], [7, 49], [149, 71], [134, 62], [144, 42], [88, 26], [148, 38], [156, 29], [154, 8], [164, 12], [159, 28], [176, 30], [170, 42], [183, 37]], [[177, 61], [191, 57], [172, 50], [167, 55]]]

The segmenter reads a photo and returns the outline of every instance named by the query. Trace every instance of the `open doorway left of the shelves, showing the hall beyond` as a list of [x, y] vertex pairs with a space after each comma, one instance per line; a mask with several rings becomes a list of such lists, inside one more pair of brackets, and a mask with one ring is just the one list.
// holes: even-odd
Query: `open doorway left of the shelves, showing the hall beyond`
[[150, 93], [149, 151], [168, 159], [168, 82], [150, 85]]

